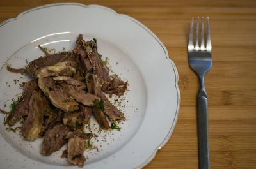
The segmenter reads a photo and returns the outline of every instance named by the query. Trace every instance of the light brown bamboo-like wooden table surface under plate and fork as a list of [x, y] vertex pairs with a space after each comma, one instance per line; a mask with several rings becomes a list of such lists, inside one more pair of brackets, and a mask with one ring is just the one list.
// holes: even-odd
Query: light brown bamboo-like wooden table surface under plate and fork
[[[50, 0], [0, 0], [0, 22]], [[168, 49], [179, 71], [181, 105], [173, 135], [145, 168], [198, 168], [196, 94], [186, 44], [191, 17], [209, 16], [212, 68], [205, 77], [209, 98], [211, 168], [256, 168], [256, 1], [102, 0], [136, 18]]]

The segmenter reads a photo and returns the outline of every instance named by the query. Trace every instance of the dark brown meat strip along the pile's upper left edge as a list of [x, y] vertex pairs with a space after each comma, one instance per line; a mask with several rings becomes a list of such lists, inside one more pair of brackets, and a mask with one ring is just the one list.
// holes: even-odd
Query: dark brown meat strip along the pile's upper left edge
[[41, 73], [43, 68], [48, 66], [54, 66], [58, 62], [67, 61], [70, 56], [70, 52], [61, 52], [59, 54], [45, 55], [44, 57], [39, 57], [31, 62], [27, 66], [27, 73], [33, 77], [37, 77]]

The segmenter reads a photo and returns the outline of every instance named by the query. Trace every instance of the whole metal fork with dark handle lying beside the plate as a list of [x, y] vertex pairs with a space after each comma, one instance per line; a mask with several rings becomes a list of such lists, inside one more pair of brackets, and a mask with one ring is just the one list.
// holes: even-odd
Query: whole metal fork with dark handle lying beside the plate
[[209, 17], [207, 17], [206, 44], [204, 43], [204, 17], [202, 17], [201, 44], [199, 47], [199, 17], [196, 23], [196, 40], [193, 43], [194, 18], [191, 20], [191, 27], [188, 41], [188, 62], [190, 68], [200, 78], [200, 91], [197, 96], [197, 121], [198, 121], [198, 161], [200, 169], [209, 169], [209, 142], [208, 142], [208, 101], [204, 87], [204, 75], [212, 66], [212, 45], [210, 37]]

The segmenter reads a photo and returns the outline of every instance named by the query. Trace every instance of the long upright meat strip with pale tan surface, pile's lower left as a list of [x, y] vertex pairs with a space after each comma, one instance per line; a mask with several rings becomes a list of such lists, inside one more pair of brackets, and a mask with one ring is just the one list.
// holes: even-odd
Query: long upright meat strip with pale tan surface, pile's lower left
[[44, 99], [46, 98], [42, 96], [41, 91], [35, 90], [32, 92], [29, 101], [29, 114], [21, 128], [21, 133], [25, 136], [26, 140], [35, 140], [41, 131], [44, 115]]

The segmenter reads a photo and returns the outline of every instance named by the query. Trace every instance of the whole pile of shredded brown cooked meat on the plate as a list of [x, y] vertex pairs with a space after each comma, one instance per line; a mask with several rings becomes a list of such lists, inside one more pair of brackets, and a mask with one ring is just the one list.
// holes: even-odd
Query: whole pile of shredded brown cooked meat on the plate
[[[40, 46], [38, 46], [40, 47]], [[26, 140], [44, 137], [42, 154], [49, 156], [68, 143], [63, 156], [74, 165], [83, 166], [84, 149], [92, 133], [84, 133], [93, 114], [102, 129], [111, 129], [113, 121], [124, 114], [105, 94], [121, 96], [127, 89], [117, 75], [109, 75], [106, 62], [97, 52], [97, 40], [84, 41], [79, 34], [72, 52], [49, 54], [29, 62], [26, 69], [7, 67], [16, 73], [28, 73], [35, 80], [26, 82], [20, 103], [6, 124], [21, 121]]]

